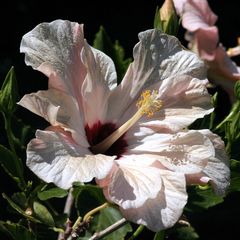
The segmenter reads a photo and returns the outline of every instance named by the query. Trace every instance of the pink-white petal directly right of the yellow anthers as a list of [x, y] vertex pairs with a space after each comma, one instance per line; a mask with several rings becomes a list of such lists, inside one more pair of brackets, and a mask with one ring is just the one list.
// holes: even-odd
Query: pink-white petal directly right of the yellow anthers
[[162, 108], [151, 118], [143, 116], [138, 124], [128, 131], [127, 136], [144, 132], [151, 134], [156, 131], [177, 132], [188, 127], [196, 119], [211, 113], [214, 108], [206, 89], [207, 83], [206, 80], [189, 75], [163, 80], [159, 88]]

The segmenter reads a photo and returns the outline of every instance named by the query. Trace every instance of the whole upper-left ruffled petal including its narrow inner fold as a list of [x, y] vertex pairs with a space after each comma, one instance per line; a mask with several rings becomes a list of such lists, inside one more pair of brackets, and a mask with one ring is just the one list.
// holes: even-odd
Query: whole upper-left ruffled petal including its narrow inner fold
[[84, 41], [83, 25], [63, 20], [39, 24], [23, 36], [20, 50], [27, 65], [49, 77], [50, 88], [77, 100], [81, 115], [84, 107], [85, 122], [103, 118], [105, 111], [96, 109], [106, 105], [107, 90], [117, 84], [116, 71], [109, 57]]

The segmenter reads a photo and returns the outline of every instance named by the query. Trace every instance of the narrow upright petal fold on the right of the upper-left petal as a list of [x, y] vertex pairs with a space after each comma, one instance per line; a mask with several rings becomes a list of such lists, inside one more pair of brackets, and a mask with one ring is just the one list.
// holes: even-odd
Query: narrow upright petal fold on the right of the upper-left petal
[[82, 85], [85, 122], [91, 126], [96, 121], [104, 122], [110, 89], [117, 85], [117, 76], [112, 60], [104, 53], [91, 48], [86, 42], [82, 61], [87, 75]]

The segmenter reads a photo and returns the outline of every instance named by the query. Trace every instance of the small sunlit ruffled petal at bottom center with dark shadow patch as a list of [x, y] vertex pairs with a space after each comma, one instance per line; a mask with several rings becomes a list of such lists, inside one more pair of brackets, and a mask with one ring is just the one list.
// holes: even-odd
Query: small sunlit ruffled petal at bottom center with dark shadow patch
[[119, 168], [107, 186], [107, 197], [123, 209], [140, 207], [147, 199], [156, 198], [162, 184], [160, 171], [149, 166], [152, 162], [144, 155], [117, 160]]

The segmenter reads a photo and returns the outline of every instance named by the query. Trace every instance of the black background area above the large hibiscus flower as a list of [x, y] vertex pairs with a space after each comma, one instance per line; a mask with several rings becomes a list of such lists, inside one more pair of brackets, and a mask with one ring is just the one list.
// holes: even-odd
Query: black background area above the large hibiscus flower
[[[26, 89], [31, 91], [32, 88], [38, 89], [44, 85], [36, 79], [40, 74], [36, 73], [36, 77], [33, 70], [24, 65], [24, 56], [19, 53], [22, 36], [40, 22], [68, 19], [84, 23], [85, 37], [90, 44], [100, 25], [103, 25], [111, 39], [119, 40], [126, 55], [132, 56], [132, 48], [138, 41], [137, 34], [152, 28], [156, 6], [161, 6], [162, 2], [163, 0], [110, 3], [106, 0], [6, 0], [0, 6], [0, 81], [13, 65], [21, 95], [26, 93]], [[236, 2], [238, 1], [209, 0], [211, 8], [219, 16], [216, 25], [219, 27], [220, 40], [226, 47], [235, 46], [237, 37], [240, 36], [240, 4]], [[181, 40], [182, 36], [180, 31]]]

